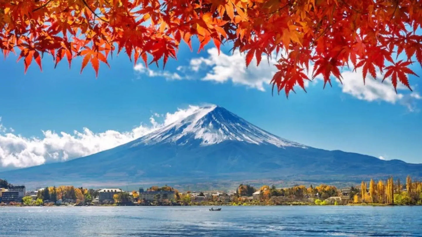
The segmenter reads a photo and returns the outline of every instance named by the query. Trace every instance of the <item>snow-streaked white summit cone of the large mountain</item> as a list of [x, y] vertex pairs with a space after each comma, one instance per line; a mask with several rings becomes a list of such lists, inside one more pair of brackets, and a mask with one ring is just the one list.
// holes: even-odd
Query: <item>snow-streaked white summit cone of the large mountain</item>
[[196, 144], [201, 146], [223, 141], [243, 141], [252, 144], [273, 144], [275, 146], [298, 146], [302, 144], [285, 140], [247, 122], [227, 109], [211, 105], [198, 107], [187, 117], [181, 118], [163, 128], [136, 140], [133, 146], [158, 143]]

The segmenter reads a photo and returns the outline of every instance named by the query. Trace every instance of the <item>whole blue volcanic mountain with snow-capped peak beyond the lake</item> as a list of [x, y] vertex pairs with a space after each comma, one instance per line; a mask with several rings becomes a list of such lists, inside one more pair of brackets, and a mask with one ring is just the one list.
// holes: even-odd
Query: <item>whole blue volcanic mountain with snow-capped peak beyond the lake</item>
[[161, 182], [356, 181], [422, 177], [422, 164], [327, 151], [289, 141], [218, 106], [103, 152], [0, 173], [12, 183], [100, 185]]

